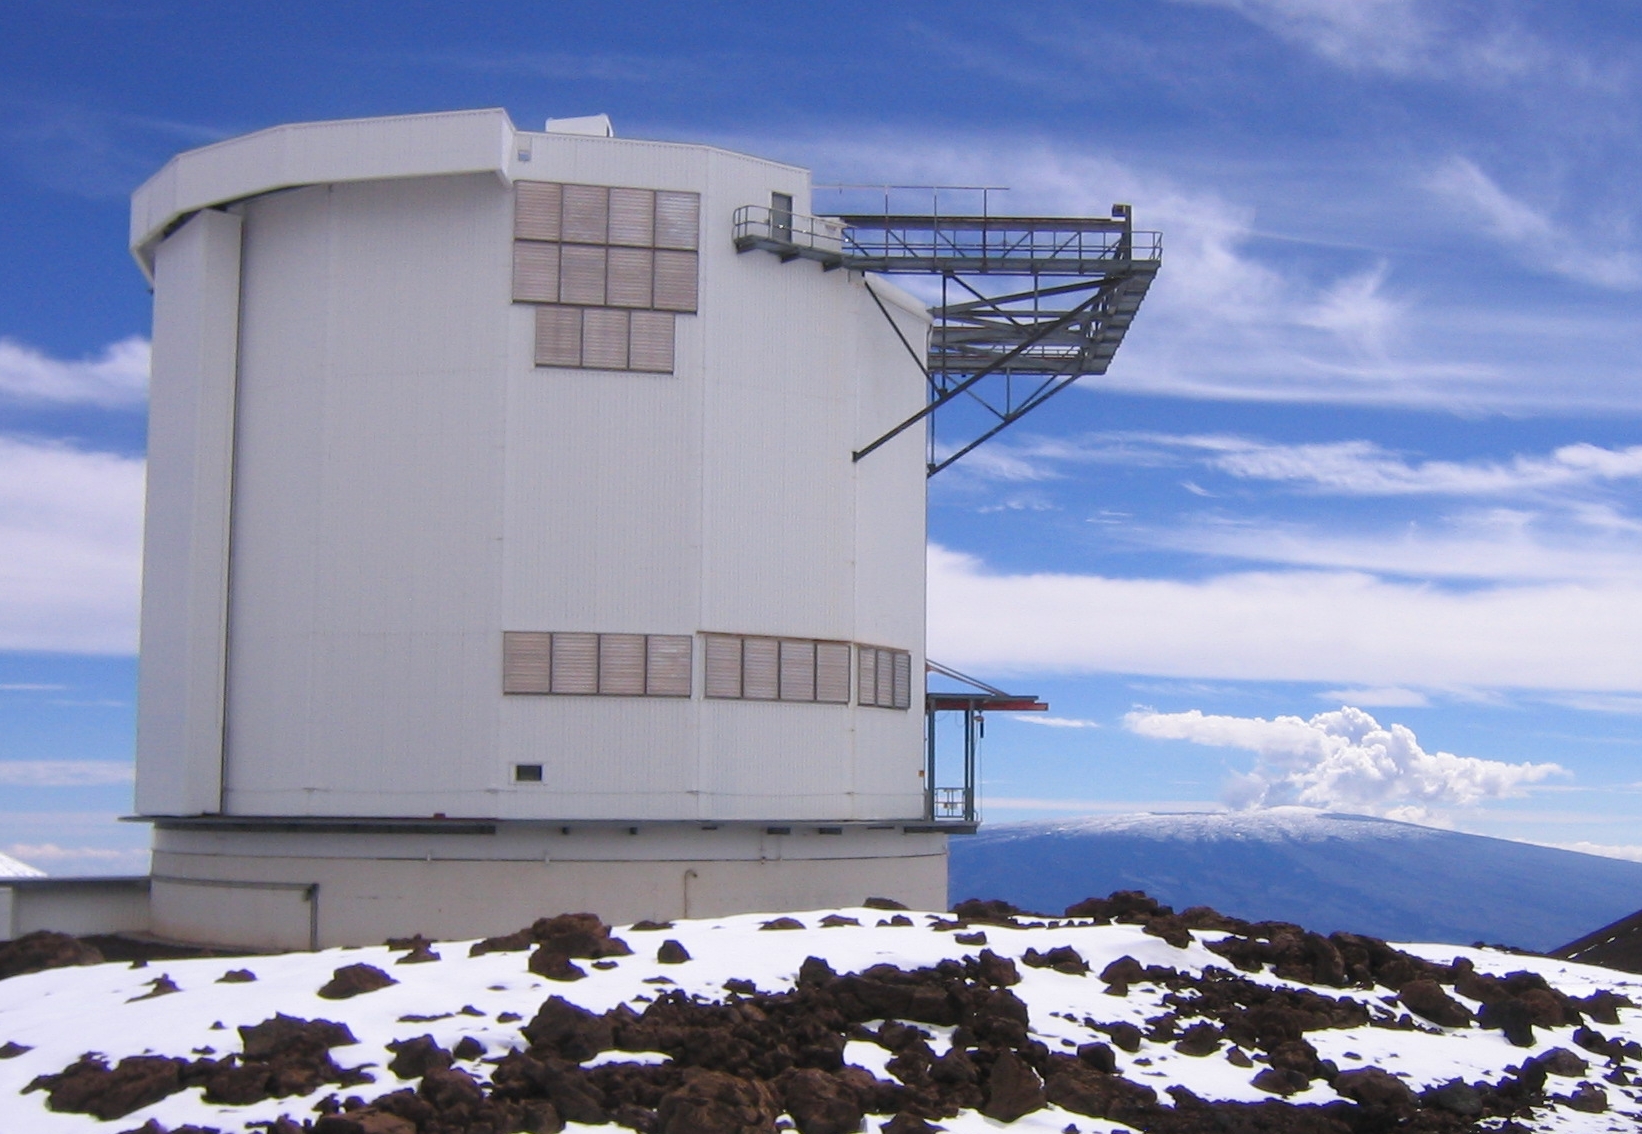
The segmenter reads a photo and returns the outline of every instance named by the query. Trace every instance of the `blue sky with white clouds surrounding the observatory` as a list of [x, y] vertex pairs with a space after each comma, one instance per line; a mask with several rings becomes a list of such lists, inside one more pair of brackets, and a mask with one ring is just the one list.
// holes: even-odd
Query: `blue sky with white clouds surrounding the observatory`
[[1299, 801], [1642, 853], [1639, 38], [1622, 0], [16, 0], [0, 850], [141, 865], [130, 190], [281, 121], [501, 105], [1164, 230], [1110, 374], [931, 484], [933, 656], [1054, 706], [988, 722], [988, 817]]

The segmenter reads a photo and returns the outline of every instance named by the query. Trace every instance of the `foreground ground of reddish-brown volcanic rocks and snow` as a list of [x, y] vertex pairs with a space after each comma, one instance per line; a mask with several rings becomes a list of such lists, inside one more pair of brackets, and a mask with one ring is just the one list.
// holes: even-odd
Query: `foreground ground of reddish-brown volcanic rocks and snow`
[[[887, 904], [883, 904], [887, 906]], [[0, 947], [0, 1129], [1634, 1131], [1642, 980], [1143, 894], [102, 962]], [[1634, 1003], [1635, 1001], [1635, 1003]]]

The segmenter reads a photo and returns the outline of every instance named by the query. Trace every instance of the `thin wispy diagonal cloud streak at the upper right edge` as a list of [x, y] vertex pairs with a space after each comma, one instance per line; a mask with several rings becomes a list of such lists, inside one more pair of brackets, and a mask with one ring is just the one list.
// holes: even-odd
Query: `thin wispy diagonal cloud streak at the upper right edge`
[[1425, 185], [1527, 267], [1550, 269], [1601, 287], [1642, 286], [1642, 266], [1629, 249], [1570, 231], [1543, 210], [1507, 194], [1468, 158], [1450, 158]]

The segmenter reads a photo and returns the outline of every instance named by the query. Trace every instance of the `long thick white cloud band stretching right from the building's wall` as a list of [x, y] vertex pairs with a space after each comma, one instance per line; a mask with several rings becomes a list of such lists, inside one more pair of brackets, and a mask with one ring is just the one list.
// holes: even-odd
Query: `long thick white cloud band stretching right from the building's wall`
[[929, 653], [1000, 676], [1642, 693], [1642, 581], [1453, 591], [1350, 571], [995, 574], [934, 545]]

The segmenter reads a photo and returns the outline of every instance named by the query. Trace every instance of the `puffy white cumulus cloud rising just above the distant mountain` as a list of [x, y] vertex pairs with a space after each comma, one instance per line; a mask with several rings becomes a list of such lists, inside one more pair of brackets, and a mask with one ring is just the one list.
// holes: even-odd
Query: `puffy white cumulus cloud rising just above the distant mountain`
[[1233, 807], [1299, 804], [1328, 811], [1424, 817], [1429, 807], [1465, 807], [1520, 796], [1555, 763], [1502, 763], [1452, 752], [1425, 752], [1401, 724], [1381, 725], [1361, 709], [1300, 717], [1225, 717], [1136, 709], [1123, 727], [1156, 740], [1189, 740], [1258, 755], [1254, 768], [1232, 778]]

